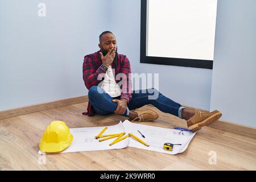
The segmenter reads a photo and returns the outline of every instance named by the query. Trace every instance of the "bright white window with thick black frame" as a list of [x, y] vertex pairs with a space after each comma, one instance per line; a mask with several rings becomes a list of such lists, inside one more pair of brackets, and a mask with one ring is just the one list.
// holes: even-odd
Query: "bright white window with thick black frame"
[[217, 0], [142, 0], [141, 63], [212, 69]]

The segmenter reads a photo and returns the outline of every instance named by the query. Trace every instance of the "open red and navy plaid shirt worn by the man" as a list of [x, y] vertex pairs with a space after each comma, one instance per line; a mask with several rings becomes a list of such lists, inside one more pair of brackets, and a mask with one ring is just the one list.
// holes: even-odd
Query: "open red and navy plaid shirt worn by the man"
[[[116, 53], [117, 60], [116, 63], [112, 63], [112, 68], [115, 69], [115, 82], [120, 86], [121, 98], [126, 98], [128, 102], [131, 99], [131, 67], [129, 59], [125, 55], [120, 55]], [[106, 73], [106, 71], [102, 68], [102, 61], [100, 57], [100, 51], [94, 52], [90, 55], [84, 56], [84, 64], [82, 65], [82, 76], [84, 79], [84, 83], [86, 88], [89, 90], [92, 86], [98, 85], [102, 80], [98, 80], [98, 76], [102, 73]], [[123, 73], [119, 74], [119, 73]], [[125, 79], [123, 79], [125, 78]], [[94, 110], [93, 106], [88, 102], [87, 113], [82, 113], [85, 115], [93, 115]]]

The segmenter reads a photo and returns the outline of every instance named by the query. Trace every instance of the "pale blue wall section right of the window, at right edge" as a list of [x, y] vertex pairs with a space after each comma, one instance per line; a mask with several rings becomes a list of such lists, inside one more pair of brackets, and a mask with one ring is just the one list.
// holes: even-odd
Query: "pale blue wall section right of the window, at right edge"
[[256, 127], [256, 1], [218, 1], [210, 109]]

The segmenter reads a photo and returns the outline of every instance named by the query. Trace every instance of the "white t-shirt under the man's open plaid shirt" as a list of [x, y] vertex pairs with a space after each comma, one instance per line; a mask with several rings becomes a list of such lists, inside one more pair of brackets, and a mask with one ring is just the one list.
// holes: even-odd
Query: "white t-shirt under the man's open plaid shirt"
[[111, 97], [117, 97], [121, 95], [121, 89], [117, 82], [115, 82], [111, 65], [109, 65], [100, 87], [104, 89], [105, 92], [108, 93]]

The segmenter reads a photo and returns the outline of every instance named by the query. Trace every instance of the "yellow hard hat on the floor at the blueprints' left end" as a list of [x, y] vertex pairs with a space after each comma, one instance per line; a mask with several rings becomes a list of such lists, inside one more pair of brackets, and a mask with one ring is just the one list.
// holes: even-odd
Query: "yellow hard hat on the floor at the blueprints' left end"
[[73, 140], [68, 126], [63, 121], [52, 121], [44, 130], [39, 148], [42, 152], [60, 152], [65, 150]]

